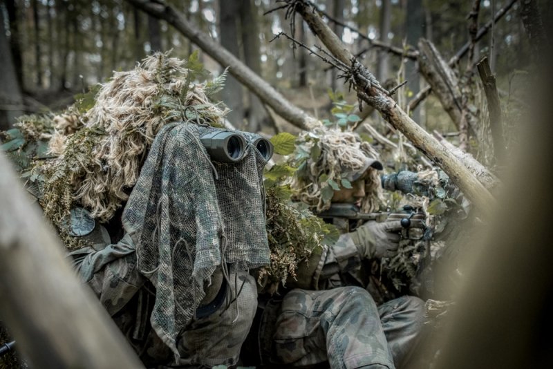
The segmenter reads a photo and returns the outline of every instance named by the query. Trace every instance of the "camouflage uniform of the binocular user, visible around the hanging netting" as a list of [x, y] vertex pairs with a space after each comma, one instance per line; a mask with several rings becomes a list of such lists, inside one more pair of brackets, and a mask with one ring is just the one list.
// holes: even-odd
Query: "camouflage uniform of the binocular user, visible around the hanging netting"
[[200, 368], [238, 363], [257, 304], [252, 276], [247, 272], [229, 276], [225, 301], [215, 312], [194, 319], [180, 332], [176, 340], [179, 357], [175, 358], [151, 327], [156, 289], [136, 269], [131, 238], [126, 235], [119, 243], [109, 244], [106, 230], [97, 225], [87, 239], [93, 241], [91, 247], [69, 254], [77, 274], [95, 292], [145, 366]]

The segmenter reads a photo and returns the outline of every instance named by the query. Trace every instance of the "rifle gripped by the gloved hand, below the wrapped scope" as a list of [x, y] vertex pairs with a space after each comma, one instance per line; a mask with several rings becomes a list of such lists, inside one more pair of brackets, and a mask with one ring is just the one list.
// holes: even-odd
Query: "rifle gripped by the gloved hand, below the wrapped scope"
[[333, 203], [328, 210], [317, 213], [317, 216], [331, 218], [336, 227], [346, 231], [350, 231], [349, 220], [374, 220], [379, 223], [399, 220], [402, 225], [402, 237], [411, 240], [420, 240], [426, 229], [424, 212], [411, 205], [404, 205], [402, 210], [395, 212], [363, 213], [356, 205]]

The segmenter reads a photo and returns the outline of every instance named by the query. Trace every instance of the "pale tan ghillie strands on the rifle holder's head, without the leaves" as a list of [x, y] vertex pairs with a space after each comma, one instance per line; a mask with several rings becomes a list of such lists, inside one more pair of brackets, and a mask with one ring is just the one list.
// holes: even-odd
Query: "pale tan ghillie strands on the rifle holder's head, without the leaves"
[[[371, 144], [364, 142], [357, 133], [342, 132], [339, 129], [317, 128], [299, 135], [299, 142], [306, 151], [312, 151], [318, 146], [321, 154], [315, 160], [312, 155], [307, 159], [307, 175], [294, 175], [290, 183], [294, 196], [306, 204], [316, 206], [317, 211], [330, 207], [330, 200], [324, 200], [319, 182], [321, 175], [335, 180], [340, 184], [341, 171], [359, 171], [365, 166], [366, 158], [378, 159], [378, 153]], [[382, 189], [379, 173], [369, 167], [366, 176], [365, 193], [362, 200], [362, 211], [379, 209], [382, 201]], [[298, 172], [296, 172], [298, 173]]]

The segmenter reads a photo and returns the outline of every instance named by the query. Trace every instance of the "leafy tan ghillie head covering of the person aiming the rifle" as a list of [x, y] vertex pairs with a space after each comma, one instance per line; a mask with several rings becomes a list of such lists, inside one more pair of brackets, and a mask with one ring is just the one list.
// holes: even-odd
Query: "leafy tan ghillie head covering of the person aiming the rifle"
[[357, 133], [317, 128], [299, 135], [294, 163], [297, 171], [290, 182], [294, 198], [317, 211], [330, 207], [334, 191], [351, 188], [351, 182], [365, 173], [362, 211], [379, 209], [382, 189], [378, 153]]

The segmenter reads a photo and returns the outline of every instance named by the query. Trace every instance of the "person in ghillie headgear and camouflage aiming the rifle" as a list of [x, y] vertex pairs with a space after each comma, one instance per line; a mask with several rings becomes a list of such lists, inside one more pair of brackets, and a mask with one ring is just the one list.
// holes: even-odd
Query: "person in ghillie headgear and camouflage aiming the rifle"
[[[332, 203], [378, 210], [382, 164], [358, 135], [315, 129], [300, 136], [296, 154], [299, 169], [290, 187], [314, 211], [324, 212]], [[260, 299], [250, 334], [259, 339], [248, 337], [245, 348], [259, 350], [261, 365], [328, 361], [331, 368], [389, 369], [409, 361], [424, 322], [424, 302], [399, 296], [376, 303], [368, 292], [375, 272], [370, 261], [394, 256], [405, 227], [400, 219], [355, 223], [337, 242], [298, 264], [296, 280], [288, 278], [288, 290], [279, 290], [283, 297]], [[409, 228], [422, 226], [413, 221]], [[245, 363], [255, 354], [243, 352]]]

